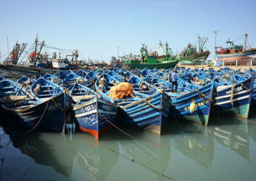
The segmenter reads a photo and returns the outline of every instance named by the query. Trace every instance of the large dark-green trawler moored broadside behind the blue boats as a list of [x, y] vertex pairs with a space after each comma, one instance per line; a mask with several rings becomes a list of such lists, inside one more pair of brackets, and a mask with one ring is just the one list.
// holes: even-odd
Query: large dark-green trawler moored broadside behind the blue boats
[[161, 69], [161, 68], [174, 68], [178, 61], [175, 56], [171, 54], [171, 49], [168, 48], [168, 43], [166, 42], [166, 54], [158, 56], [157, 52], [148, 52], [147, 47], [143, 45], [140, 49], [140, 57], [138, 59], [128, 59], [123, 61], [122, 67], [124, 69]]

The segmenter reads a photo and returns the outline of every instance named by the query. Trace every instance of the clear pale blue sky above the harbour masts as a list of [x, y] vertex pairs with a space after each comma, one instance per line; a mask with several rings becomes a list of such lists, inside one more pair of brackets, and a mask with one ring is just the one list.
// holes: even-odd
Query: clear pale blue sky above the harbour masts
[[[0, 50], [8, 45], [39, 41], [52, 47], [77, 49], [85, 59], [109, 61], [112, 56], [136, 54], [141, 43], [157, 50], [159, 40], [168, 41], [173, 52], [188, 43], [196, 44], [197, 34], [209, 37], [210, 58], [225, 41], [248, 41], [256, 47], [256, 1], [27, 1], [1, 0]], [[238, 38], [238, 39], [237, 39]], [[160, 52], [161, 54], [161, 52]], [[81, 59], [83, 59], [80, 56]]]

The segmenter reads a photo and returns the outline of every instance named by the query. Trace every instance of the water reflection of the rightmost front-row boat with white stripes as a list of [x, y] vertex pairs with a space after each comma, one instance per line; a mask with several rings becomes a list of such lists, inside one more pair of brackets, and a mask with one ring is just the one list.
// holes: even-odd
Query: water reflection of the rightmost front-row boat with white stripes
[[236, 117], [225, 117], [221, 119], [221, 124], [223, 125], [209, 127], [214, 140], [228, 149], [234, 150], [250, 163], [248, 122]]

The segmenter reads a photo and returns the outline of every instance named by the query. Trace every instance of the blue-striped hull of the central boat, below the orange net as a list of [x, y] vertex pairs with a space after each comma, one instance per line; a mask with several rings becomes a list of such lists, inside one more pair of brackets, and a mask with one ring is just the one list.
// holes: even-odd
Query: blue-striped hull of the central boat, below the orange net
[[161, 134], [163, 124], [166, 122], [170, 110], [170, 96], [165, 92], [156, 92], [152, 96], [122, 107], [118, 122], [126, 126], [140, 127], [144, 131]]

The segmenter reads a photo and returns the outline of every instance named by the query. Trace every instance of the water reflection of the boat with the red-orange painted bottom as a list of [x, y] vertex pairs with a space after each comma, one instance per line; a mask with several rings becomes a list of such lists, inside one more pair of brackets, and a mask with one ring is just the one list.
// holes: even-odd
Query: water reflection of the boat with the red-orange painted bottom
[[117, 141], [109, 143], [108, 141], [105, 142], [104, 138], [98, 141], [83, 133], [74, 134], [73, 136], [76, 140], [79, 140], [79, 147], [75, 156], [78, 166], [88, 173], [93, 180], [106, 180], [109, 171], [115, 166], [119, 157], [118, 154], [108, 148], [119, 152]]

